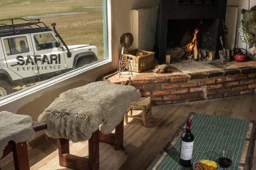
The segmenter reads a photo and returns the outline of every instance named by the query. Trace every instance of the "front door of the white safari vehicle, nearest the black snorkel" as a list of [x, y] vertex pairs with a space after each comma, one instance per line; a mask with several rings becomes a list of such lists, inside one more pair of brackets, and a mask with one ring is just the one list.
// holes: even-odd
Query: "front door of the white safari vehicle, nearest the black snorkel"
[[66, 70], [64, 52], [51, 31], [30, 34], [36, 68], [39, 74], [55, 74]]

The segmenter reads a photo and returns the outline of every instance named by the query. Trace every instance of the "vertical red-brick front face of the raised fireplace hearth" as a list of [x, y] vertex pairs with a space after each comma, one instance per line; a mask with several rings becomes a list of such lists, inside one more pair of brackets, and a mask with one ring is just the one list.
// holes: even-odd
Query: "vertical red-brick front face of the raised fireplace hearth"
[[238, 96], [256, 92], [256, 68], [246, 66], [195, 74], [132, 78], [142, 96], [152, 105], [167, 105]]

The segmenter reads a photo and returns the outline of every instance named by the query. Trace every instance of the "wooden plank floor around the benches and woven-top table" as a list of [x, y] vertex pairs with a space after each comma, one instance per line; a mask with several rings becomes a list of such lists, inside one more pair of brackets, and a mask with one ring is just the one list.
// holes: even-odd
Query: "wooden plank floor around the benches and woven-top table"
[[[152, 116], [148, 118], [147, 128], [143, 127], [139, 120], [129, 118], [128, 124], [124, 125], [124, 147], [121, 150], [116, 151], [113, 146], [100, 143], [100, 170], [146, 170], [189, 112], [256, 120], [256, 94], [154, 106]], [[86, 156], [87, 144], [87, 142], [71, 143], [70, 153]], [[256, 170], [255, 157], [254, 170]], [[70, 170], [58, 165], [55, 139], [48, 139], [29, 150], [29, 159], [31, 170]], [[14, 170], [13, 164], [7, 164], [2, 170]]]

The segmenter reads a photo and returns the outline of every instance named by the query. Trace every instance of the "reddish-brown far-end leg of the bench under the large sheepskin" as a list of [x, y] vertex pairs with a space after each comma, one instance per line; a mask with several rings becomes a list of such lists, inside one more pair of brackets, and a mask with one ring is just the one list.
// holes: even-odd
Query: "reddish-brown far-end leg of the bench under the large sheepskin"
[[116, 126], [115, 133], [104, 134], [99, 132], [99, 142], [115, 145], [115, 150], [123, 147], [124, 119]]

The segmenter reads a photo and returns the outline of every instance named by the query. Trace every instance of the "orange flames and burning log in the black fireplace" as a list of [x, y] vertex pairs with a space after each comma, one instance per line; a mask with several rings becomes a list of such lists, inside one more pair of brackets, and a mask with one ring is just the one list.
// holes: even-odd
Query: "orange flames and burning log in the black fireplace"
[[201, 55], [200, 55], [199, 47], [198, 47], [198, 43], [197, 43], [198, 31], [199, 31], [199, 29], [196, 28], [195, 32], [194, 32], [193, 40], [186, 45], [186, 52], [192, 52], [193, 59], [196, 59], [196, 60], [201, 59]]

